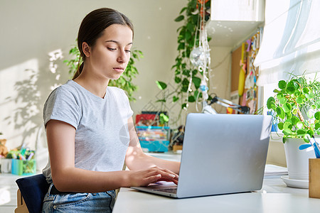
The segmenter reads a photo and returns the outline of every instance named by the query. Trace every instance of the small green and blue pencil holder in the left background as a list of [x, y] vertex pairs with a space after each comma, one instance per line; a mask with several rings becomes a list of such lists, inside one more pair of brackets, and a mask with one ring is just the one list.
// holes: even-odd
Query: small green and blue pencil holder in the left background
[[14, 175], [34, 175], [36, 174], [36, 160], [12, 159], [11, 173]]

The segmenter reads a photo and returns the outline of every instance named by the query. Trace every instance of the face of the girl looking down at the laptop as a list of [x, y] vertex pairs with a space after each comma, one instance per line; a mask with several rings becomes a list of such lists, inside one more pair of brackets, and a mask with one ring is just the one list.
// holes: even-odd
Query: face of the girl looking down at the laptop
[[90, 49], [91, 71], [97, 77], [117, 80], [128, 65], [132, 47], [132, 30], [128, 26], [113, 24], [97, 39]]

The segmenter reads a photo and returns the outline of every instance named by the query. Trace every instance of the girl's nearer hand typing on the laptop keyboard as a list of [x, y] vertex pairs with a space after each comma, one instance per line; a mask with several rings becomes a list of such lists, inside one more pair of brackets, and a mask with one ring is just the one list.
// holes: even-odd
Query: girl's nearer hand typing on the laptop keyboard
[[129, 186], [146, 186], [158, 181], [174, 182], [178, 184], [178, 175], [170, 170], [154, 166], [146, 170], [129, 171]]

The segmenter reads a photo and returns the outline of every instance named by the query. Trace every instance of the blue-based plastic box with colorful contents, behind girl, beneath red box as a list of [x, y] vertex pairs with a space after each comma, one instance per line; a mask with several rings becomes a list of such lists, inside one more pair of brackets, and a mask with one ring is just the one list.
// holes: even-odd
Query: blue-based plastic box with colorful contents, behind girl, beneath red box
[[168, 126], [136, 126], [140, 145], [144, 151], [167, 152], [170, 128]]

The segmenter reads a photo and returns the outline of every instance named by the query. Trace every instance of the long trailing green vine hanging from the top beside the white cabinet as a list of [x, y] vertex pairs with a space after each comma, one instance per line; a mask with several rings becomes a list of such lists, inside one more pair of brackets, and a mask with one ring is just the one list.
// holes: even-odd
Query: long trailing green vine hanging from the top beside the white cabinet
[[[174, 20], [176, 22], [183, 21], [183, 25], [177, 30], [178, 55], [175, 64], [171, 67], [175, 74], [174, 82], [176, 83], [176, 89], [156, 102], [166, 102], [167, 99], [172, 98], [172, 102], [181, 101], [182, 110], [188, 107], [188, 102], [196, 102], [197, 97], [201, 98], [199, 87], [203, 73], [191, 65], [190, 53], [199, 44], [199, 31], [201, 30], [201, 24], [199, 23], [201, 16], [205, 14], [205, 21], [208, 21], [210, 18], [210, 13], [208, 12], [210, 11], [210, 3], [208, 0], [188, 0], [187, 6], [181, 9], [178, 17]], [[209, 40], [210, 38], [208, 38]], [[164, 82], [156, 81], [156, 84], [161, 90], [167, 87], [167, 84]]]

